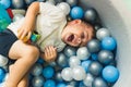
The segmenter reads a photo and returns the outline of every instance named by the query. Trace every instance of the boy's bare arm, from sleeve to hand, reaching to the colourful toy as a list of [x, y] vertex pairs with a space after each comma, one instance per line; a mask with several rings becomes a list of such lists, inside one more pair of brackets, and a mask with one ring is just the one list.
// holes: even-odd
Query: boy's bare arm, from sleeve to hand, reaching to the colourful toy
[[24, 37], [27, 37], [27, 40], [29, 39], [35, 26], [36, 15], [38, 14], [38, 12], [39, 12], [39, 2], [33, 2], [26, 11], [23, 25], [19, 28], [17, 37], [21, 40], [23, 40]]

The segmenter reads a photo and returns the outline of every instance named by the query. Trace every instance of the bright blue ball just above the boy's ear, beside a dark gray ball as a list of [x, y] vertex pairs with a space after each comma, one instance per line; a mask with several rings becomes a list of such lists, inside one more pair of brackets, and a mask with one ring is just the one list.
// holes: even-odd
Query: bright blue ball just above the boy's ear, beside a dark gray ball
[[71, 9], [70, 15], [73, 20], [83, 18], [84, 11], [81, 7], [73, 7]]

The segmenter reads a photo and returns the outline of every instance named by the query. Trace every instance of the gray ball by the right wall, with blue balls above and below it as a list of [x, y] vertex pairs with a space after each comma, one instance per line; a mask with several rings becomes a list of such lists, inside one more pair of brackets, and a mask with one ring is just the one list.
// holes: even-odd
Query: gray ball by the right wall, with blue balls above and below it
[[98, 61], [107, 65], [114, 61], [114, 53], [109, 50], [100, 50], [98, 52]]

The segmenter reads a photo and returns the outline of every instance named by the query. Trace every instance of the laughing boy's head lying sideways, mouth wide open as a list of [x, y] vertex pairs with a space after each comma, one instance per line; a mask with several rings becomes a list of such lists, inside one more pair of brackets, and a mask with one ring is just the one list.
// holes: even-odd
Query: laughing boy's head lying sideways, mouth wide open
[[82, 47], [93, 37], [93, 27], [81, 20], [74, 20], [67, 24], [62, 32], [62, 40], [73, 47]]

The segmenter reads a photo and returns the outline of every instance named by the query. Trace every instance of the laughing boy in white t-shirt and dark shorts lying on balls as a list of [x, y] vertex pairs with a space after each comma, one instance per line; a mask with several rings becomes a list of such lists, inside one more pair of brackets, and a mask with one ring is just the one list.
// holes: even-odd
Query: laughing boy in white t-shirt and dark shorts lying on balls
[[[73, 47], [85, 46], [93, 37], [93, 27], [81, 20], [67, 22], [67, 15], [58, 7], [46, 2], [33, 2], [22, 21], [12, 23], [0, 33], [0, 54], [16, 60], [10, 66], [5, 87], [27, 87], [27, 72], [39, 54], [45, 61], [55, 61], [57, 52], [66, 44]], [[23, 42], [33, 32], [41, 35], [38, 48]], [[40, 51], [39, 51], [40, 50]]]

